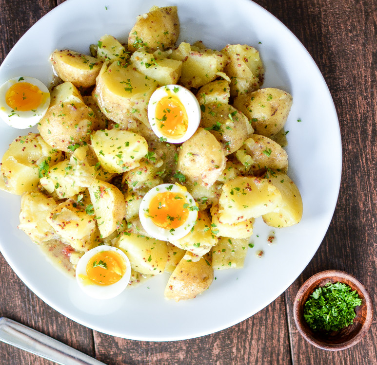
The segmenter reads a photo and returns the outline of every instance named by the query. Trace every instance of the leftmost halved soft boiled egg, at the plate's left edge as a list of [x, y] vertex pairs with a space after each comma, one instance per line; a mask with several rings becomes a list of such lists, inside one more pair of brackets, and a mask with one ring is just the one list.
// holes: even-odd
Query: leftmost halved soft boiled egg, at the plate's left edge
[[50, 105], [50, 92], [34, 77], [14, 77], [0, 86], [0, 118], [19, 129], [35, 126]]

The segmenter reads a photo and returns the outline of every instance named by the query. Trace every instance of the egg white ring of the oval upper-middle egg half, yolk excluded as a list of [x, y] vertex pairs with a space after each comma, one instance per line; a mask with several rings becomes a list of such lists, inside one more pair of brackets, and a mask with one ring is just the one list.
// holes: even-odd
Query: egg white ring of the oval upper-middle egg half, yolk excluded
[[[156, 106], [159, 100], [168, 96], [169, 92], [174, 93], [186, 109], [188, 117], [188, 127], [186, 133], [181, 138], [170, 138], [161, 133], [157, 127]], [[154, 133], [169, 143], [183, 143], [187, 141], [198, 129], [201, 118], [200, 105], [195, 95], [180, 85], [165, 85], [155, 90], [148, 103], [148, 119]]]

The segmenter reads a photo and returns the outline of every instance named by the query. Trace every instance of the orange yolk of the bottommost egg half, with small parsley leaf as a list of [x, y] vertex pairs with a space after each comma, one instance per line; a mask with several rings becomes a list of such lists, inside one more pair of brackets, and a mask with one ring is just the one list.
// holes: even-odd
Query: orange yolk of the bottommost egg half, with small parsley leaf
[[99, 285], [111, 285], [121, 279], [126, 272], [123, 257], [115, 251], [101, 251], [86, 265], [88, 279]]

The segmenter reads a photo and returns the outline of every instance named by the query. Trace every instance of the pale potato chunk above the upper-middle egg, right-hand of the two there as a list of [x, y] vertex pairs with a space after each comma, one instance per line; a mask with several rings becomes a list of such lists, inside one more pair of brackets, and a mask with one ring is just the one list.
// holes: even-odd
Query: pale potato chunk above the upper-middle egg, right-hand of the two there
[[198, 50], [188, 43], [181, 43], [170, 58], [183, 62], [179, 81], [186, 88], [199, 88], [213, 81], [227, 61], [227, 57], [221, 52]]

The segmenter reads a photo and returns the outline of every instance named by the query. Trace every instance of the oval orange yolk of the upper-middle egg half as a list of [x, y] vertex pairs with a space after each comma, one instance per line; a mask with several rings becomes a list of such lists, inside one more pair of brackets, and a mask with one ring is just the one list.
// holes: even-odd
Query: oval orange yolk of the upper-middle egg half
[[178, 139], [186, 133], [187, 112], [176, 94], [169, 92], [157, 102], [155, 116], [156, 125], [165, 137]]

